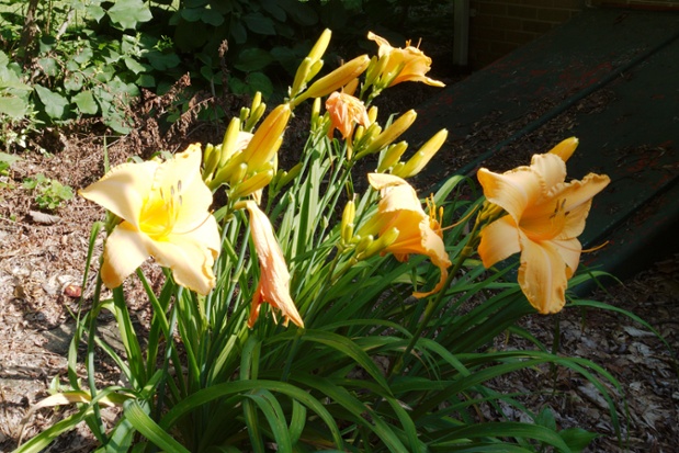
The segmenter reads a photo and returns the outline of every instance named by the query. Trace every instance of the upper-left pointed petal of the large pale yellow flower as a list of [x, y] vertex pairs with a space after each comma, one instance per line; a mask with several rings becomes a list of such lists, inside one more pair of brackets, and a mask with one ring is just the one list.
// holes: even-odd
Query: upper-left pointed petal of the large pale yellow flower
[[158, 167], [156, 161], [123, 163], [78, 193], [138, 228], [139, 213]]

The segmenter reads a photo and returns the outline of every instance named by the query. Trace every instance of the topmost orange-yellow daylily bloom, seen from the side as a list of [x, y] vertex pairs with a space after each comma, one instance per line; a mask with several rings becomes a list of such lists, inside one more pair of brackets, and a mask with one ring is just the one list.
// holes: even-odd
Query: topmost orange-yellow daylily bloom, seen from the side
[[393, 78], [388, 87], [406, 81], [423, 82], [432, 87], [445, 87], [445, 83], [426, 76], [431, 69], [431, 58], [425, 55], [418, 47], [411, 46], [410, 41], [406, 43], [406, 48], [395, 48], [392, 47], [388, 41], [372, 32], [367, 33], [367, 38], [380, 45], [377, 55], [381, 59], [388, 58], [384, 67], [381, 68], [382, 77]]

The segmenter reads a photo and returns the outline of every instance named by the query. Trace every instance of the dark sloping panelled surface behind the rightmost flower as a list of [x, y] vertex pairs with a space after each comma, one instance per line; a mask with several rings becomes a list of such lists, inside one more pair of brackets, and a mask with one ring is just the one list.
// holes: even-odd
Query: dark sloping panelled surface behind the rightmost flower
[[[456, 171], [466, 174], [502, 152], [548, 150], [539, 137], [567, 123], [550, 143], [580, 139], [569, 177], [612, 180], [581, 237], [585, 248], [609, 244], [584, 263], [625, 278], [679, 252], [679, 13], [586, 10], [417, 110], [409, 141], [448, 128], [437, 159], [478, 150]], [[434, 161], [426, 177], [442, 181], [444, 168]]]

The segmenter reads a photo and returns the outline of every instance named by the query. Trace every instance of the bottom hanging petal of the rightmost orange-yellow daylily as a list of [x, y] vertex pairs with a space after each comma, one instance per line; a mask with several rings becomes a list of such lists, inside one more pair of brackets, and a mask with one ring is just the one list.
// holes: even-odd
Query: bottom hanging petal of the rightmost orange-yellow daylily
[[557, 247], [551, 241], [534, 242], [520, 235], [519, 285], [541, 314], [559, 312], [566, 304], [568, 270]]

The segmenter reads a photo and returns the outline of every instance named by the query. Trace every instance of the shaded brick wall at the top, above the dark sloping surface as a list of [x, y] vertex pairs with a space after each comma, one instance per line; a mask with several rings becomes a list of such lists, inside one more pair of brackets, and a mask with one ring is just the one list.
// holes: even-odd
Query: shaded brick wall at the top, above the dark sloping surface
[[477, 69], [493, 63], [585, 7], [586, 0], [471, 0], [471, 66]]

